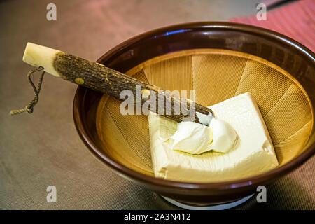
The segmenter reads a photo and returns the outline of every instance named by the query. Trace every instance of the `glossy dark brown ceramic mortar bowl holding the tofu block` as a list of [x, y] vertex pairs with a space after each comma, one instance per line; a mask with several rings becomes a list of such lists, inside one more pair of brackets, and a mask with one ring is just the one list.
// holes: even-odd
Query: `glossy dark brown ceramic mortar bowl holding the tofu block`
[[[291, 117], [286, 118], [287, 120], [282, 120], [282, 123], [276, 123], [277, 120], [281, 120], [281, 117], [283, 117], [281, 114], [272, 118], [264, 117], [269, 132], [272, 135], [272, 141], [274, 141], [278, 159], [280, 160], [279, 167], [257, 176], [224, 182], [184, 183], [155, 178], [151, 172], [152, 167], [148, 164], [150, 163], [148, 137], [144, 137], [146, 140], [144, 140], [145, 142], [143, 144], [145, 146], [143, 148], [137, 146], [137, 142], [135, 141], [129, 142], [129, 144], [132, 144], [137, 150], [139, 149], [142, 154], [146, 153], [148, 155], [148, 161], [145, 165], [146, 158], [141, 158], [141, 153], [138, 160], [137, 154], [133, 154], [134, 151], [132, 150], [128, 151], [123, 144], [120, 145], [121, 142], [117, 145], [111, 143], [114, 131], [108, 130], [109, 127], [106, 125], [109, 124], [106, 122], [110, 122], [111, 120], [106, 118], [108, 111], [103, 111], [106, 103], [111, 103], [106, 107], [106, 109], [109, 110], [117, 103], [114, 100], [108, 102], [109, 98], [102, 96], [102, 94], [98, 92], [88, 90], [84, 87], [78, 87], [73, 102], [73, 117], [78, 134], [87, 148], [89, 148], [101, 162], [108, 165], [125, 178], [153, 190], [156, 193], [187, 204], [224, 204], [234, 202], [242, 197], [255, 193], [258, 186], [265, 186], [302, 165], [302, 163], [309, 159], [315, 152], [313, 129], [314, 113], [312, 106], [315, 103], [315, 55], [311, 50], [293, 41], [293, 39], [267, 29], [231, 22], [188, 23], [155, 29], [135, 36], [112, 50], [109, 50], [109, 52], [106, 52], [97, 62], [105, 64], [112, 69], [141, 78], [141, 69], [146, 69], [146, 66], [151, 66], [150, 71], [153, 71], [152, 64], [154, 66], [154, 63], [160, 63], [163, 60], [166, 60], [166, 63], [168, 63], [167, 60], [174, 57], [185, 56], [186, 58], [190, 58], [197, 57], [195, 56], [196, 54], [214, 54], [214, 52], [221, 55], [228, 54], [228, 57], [234, 58], [236, 56], [241, 58], [237, 59], [236, 64], [243, 62], [242, 58], [244, 57], [247, 60], [246, 63], [251, 59], [257, 63], [265, 63], [267, 66], [272, 67], [272, 69], [276, 69], [276, 72], [273, 72], [273, 75], [269, 77], [272, 81], [269, 82], [269, 84], [266, 82], [265, 86], [263, 86], [263, 90], [261, 90], [261, 86], [259, 88], [256, 87], [255, 84], [253, 84], [253, 87], [244, 87], [244, 90], [242, 90], [243, 92], [251, 91], [256, 93], [258, 105], [262, 113], [266, 116], [269, 114], [268, 112], [271, 108], [269, 106], [269, 111], [264, 111], [269, 105], [269, 99], [268, 97], [266, 99], [265, 94], [260, 94], [259, 91], [267, 91], [267, 93], [271, 91], [267, 94], [269, 96], [279, 95], [279, 99], [276, 99], [274, 104], [278, 105], [280, 109], [282, 109], [282, 99], [290, 98], [290, 88], [297, 91], [297, 94], [293, 94], [293, 98], [291, 97], [287, 102], [284, 100], [282, 107], [283, 111], [291, 111], [288, 106], [292, 104], [292, 113], [301, 116], [301, 118], [294, 120]], [[169, 57], [165, 55], [173, 56]], [[211, 60], [211, 57], [209, 58]], [[223, 66], [223, 64], [221, 64], [221, 66]], [[160, 67], [155, 66], [155, 69], [156, 68]], [[233, 67], [230, 69], [233, 70]], [[269, 68], [267, 68], [265, 72], [255, 75], [258, 80], [262, 76], [265, 76], [265, 73], [269, 73], [268, 69]], [[209, 76], [209, 80], [212, 80], [211, 75]], [[225, 74], [222, 75], [222, 78], [224, 78], [224, 76]], [[284, 80], [278, 80], [279, 76], [284, 77]], [[153, 80], [153, 82], [151, 83], [155, 85], [164, 85], [161, 87], [167, 87], [167, 85], [169, 85], [169, 83], [163, 84], [164, 79], [159, 78], [159, 74], [153, 73], [152, 77], [151, 80]], [[255, 77], [253, 77], [253, 79], [255, 79]], [[276, 80], [279, 81], [279, 84], [276, 84], [279, 85], [279, 88], [274, 84]], [[233, 82], [233, 80], [231, 80], [231, 82]], [[263, 80], [261, 82], [263, 82]], [[253, 81], [253, 83], [255, 83], [255, 81]], [[288, 86], [284, 86], [283, 83], [287, 83]], [[200, 85], [202, 84], [201, 82]], [[257, 85], [258, 84], [259, 83], [257, 83]], [[283, 92], [278, 94], [282, 89]], [[235, 92], [233, 94], [235, 94]], [[218, 95], [217, 98], [214, 95], [214, 99], [210, 102], [202, 102], [202, 99], [200, 99], [200, 101], [203, 104], [213, 104], [227, 97], [231, 97], [231, 95], [225, 93], [222, 97]], [[270, 97], [270, 100], [275, 99]], [[295, 105], [295, 102], [299, 100], [301, 103]], [[103, 107], [99, 106], [101, 104]], [[304, 108], [300, 108], [301, 105], [302, 107], [304, 105]], [[113, 111], [115, 111], [115, 109], [113, 109]], [[101, 115], [98, 113], [101, 113]], [[100, 116], [103, 116], [101, 120], [99, 120]], [[274, 120], [275, 118], [276, 120]], [[303, 120], [304, 118], [308, 120], [305, 121]], [[129, 118], [122, 117], [118, 119], [120, 119], [121, 123], [114, 123], [115, 128], [119, 125], [125, 125], [125, 129], [127, 130], [128, 125], [137, 125], [137, 120], [123, 120]], [[145, 127], [145, 120], [146, 118], [141, 121], [144, 124], [144, 129], [147, 128]], [[101, 126], [99, 126], [99, 123], [101, 123]], [[289, 125], [289, 128], [286, 125]], [[295, 126], [297, 130], [290, 130], [291, 127], [293, 128]], [[103, 127], [104, 133], [100, 134], [99, 128]], [[286, 130], [292, 133], [287, 133]], [[298, 132], [299, 130], [302, 131]], [[301, 134], [301, 132], [303, 133]], [[288, 136], [283, 137], [283, 133]], [[298, 135], [299, 133], [300, 135]], [[128, 139], [128, 136], [126, 136], [126, 138]], [[134, 138], [134, 133], [130, 132], [130, 139], [132, 138]], [[120, 152], [125, 153], [121, 155], [119, 154]], [[128, 160], [136, 162], [129, 161], [128, 163]], [[137, 163], [139, 163], [139, 165], [137, 165]]]

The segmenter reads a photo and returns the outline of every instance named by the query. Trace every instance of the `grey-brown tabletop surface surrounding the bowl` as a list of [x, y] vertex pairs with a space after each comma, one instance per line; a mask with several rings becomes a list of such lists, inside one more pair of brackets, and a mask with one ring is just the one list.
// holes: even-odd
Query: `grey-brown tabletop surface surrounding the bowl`
[[[31, 115], [9, 116], [33, 92], [22, 62], [33, 42], [95, 61], [144, 31], [181, 22], [229, 20], [255, 13], [258, 1], [0, 1], [0, 209], [179, 209], [98, 162], [78, 137], [72, 118], [76, 85], [45, 76]], [[57, 21], [46, 19], [55, 3]], [[35, 76], [35, 77], [38, 77]], [[314, 162], [236, 209], [315, 209]], [[57, 202], [46, 200], [56, 186]]]

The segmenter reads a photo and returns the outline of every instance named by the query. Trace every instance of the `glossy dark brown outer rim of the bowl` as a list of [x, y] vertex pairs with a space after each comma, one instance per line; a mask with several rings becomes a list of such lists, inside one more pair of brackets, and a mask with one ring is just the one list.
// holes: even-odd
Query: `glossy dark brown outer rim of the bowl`
[[[163, 34], [165, 32], [176, 31], [181, 29], [202, 29], [202, 28], [221, 28], [221, 29], [232, 29], [236, 31], [245, 31], [254, 34], [260, 34], [262, 36], [268, 38], [276, 38], [279, 41], [286, 42], [288, 45], [291, 45], [292, 48], [299, 51], [302, 55], [309, 57], [313, 61], [315, 61], [314, 52], [311, 52], [307, 47], [294, 41], [292, 38], [284, 36], [283, 34], [279, 34], [276, 31], [272, 31], [269, 29], [264, 29], [261, 27], [255, 27], [251, 25], [244, 25], [235, 22], [188, 22], [181, 23], [179, 25], [171, 25], [167, 27], [162, 27], [158, 29], [153, 29], [151, 31], [146, 31], [143, 34], [139, 34], [134, 36], [116, 47], [112, 48], [108, 52], [106, 52], [102, 57], [100, 57], [97, 62], [110, 61], [111, 58], [115, 58], [116, 55], [123, 52], [127, 48], [130, 48], [134, 43], [137, 43], [144, 38], [149, 38], [151, 36], [157, 36]], [[300, 155], [298, 155], [293, 160], [290, 160], [286, 164], [281, 167], [276, 167], [275, 169], [270, 170], [269, 172], [265, 172], [262, 174], [258, 174], [255, 176], [246, 177], [244, 179], [237, 179], [234, 181], [220, 181], [220, 182], [207, 182], [207, 183], [197, 183], [197, 182], [182, 182], [182, 181], [171, 181], [165, 179], [158, 179], [154, 176], [148, 176], [146, 174], [142, 174], [140, 172], [135, 171], [134, 169], [130, 169], [125, 165], [121, 165], [120, 163], [112, 160], [102, 153], [94, 141], [90, 139], [87, 134], [85, 127], [82, 121], [82, 114], [80, 112], [80, 105], [82, 103], [83, 97], [85, 97], [87, 89], [85, 87], [78, 86], [76, 90], [76, 94], [73, 100], [73, 120], [76, 126], [76, 130], [80, 136], [80, 139], [84, 142], [85, 146], [89, 149], [89, 151], [96, 156], [103, 164], [105, 163], [107, 166], [111, 167], [113, 170], [118, 172], [118, 174], [125, 176], [127, 179], [132, 179], [139, 181], [141, 183], [145, 183], [146, 185], [151, 185], [155, 187], [162, 188], [177, 188], [181, 190], [187, 189], [198, 189], [198, 190], [225, 190], [230, 188], [242, 188], [246, 186], [259, 186], [279, 177], [292, 172], [293, 169], [299, 167], [304, 162], [306, 162], [312, 155], [315, 153], [315, 143], [311, 144], [307, 149], [304, 150]], [[312, 128], [311, 134], [314, 132], [314, 127]]]

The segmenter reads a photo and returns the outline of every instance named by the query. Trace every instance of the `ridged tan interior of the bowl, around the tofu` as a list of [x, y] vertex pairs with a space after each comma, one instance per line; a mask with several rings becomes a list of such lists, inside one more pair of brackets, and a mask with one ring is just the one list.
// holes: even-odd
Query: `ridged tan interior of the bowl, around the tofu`
[[[183, 50], [149, 59], [127, 74], [165, 90], [195, 90], [195, 101], [205, 106], [251, 92], [280, 165], [300, 155], [309, 142], [314, 120], [307, 93], [288, 72], [260, 57], [213, 48]], [[123, 116], [120, 101], [103, 95], [96, 127], [106, 155], [154, 175], [147, 116]]]

